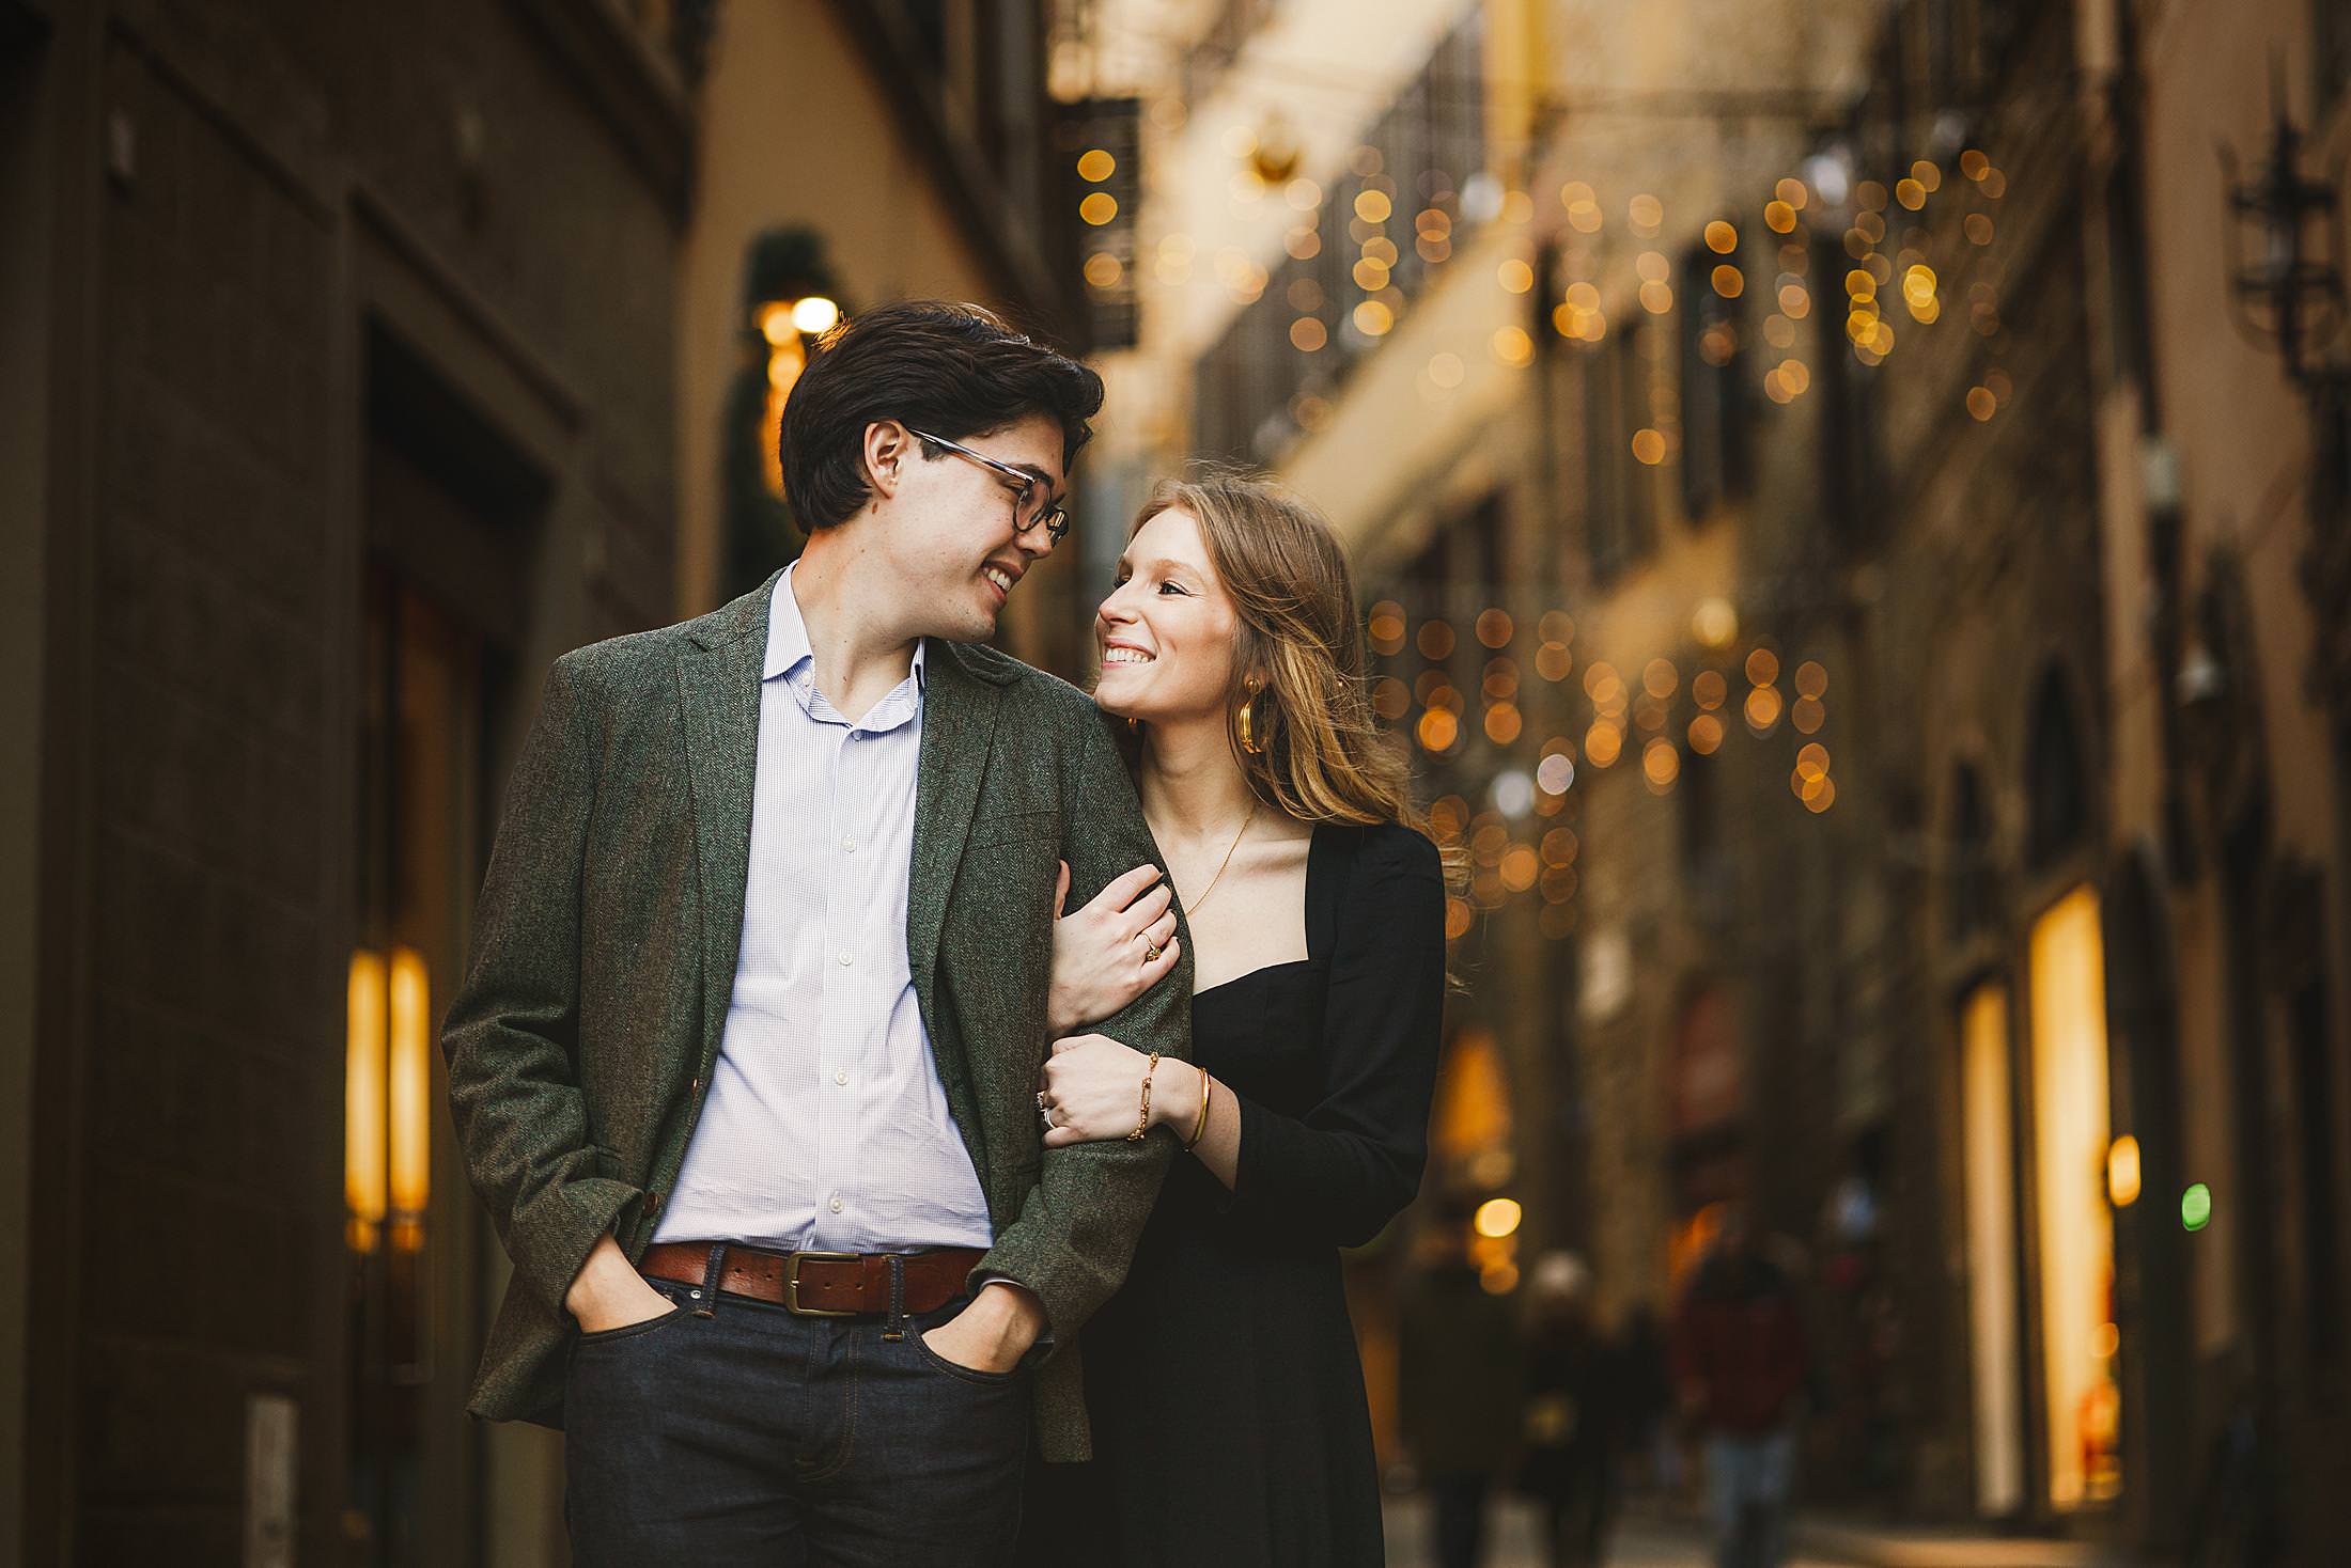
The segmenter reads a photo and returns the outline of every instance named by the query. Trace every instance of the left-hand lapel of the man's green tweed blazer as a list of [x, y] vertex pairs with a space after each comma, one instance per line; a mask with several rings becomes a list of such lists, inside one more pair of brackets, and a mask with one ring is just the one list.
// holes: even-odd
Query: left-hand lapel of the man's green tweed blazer
[[[778, 574], [781, 576], [781, 574]], [[736, 599], [734, 616], [677, 654], [677, 696], [694, 780], [694, 846], [703, 891], [703, 1053], [717, 1048], [734, 997], [750, 879], [750, 804], [759, 773], [759, 665], [776, 578]]]

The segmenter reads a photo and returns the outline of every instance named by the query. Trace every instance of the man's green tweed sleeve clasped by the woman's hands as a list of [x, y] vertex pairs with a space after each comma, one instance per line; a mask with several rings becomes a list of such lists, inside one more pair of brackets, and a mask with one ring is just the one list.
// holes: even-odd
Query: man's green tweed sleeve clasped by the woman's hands
[[[1159, 865], [1136, 785], [1098, 717], [1084, 722], [1063, 769], [1060, 856], [1079, 903], [1145, 860]], [[1145, 1053], [1192, 1056], [1192, 933], [1178, 929], [1178, 936], [1183, 954], [1173, 973], [1096, 1025], [1100, 1034]], [[1046, 1150], [1037, 1187], [976, 1272], [1027, 1286], [1053, 1338], [1067, 1342], [1126, 1276], [1171, 1154], [1173, 1143], [1157, 1133], [1143, 1143]]]

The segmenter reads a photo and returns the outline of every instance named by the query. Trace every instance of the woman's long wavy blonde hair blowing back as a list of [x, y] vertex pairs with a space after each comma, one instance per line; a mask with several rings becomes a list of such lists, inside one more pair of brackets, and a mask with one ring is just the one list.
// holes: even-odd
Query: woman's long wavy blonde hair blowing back
[[[1225, 738], [1251, 792], [1300, 823], [1429, 832], [1404, 748], [1371, 710], [1354, 571], [1338, 531], [1272, 480], [1208, 468], [1161, 480], [1126, 536], [1176, 508], [1199, 522], [1239, 614]], [[1241, 745], [1244, 708], [1253, 750]]]

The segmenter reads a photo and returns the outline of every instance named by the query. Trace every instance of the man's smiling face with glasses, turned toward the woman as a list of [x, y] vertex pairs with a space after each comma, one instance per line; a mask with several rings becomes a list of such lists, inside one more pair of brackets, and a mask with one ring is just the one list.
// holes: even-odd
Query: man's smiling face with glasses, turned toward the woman
[[[1051, 503], [1067, 491], [1060, 425], [1044, 414], [955, 440], [1044, 480]], [[1020, 576], [1053, 552], [1053, 538], [1044, 524], [1018, 531], [1013, 477], [957, 451], [936, 451], [933, 458], [922, 442], [903, 442], [893, 494], [858, 524], [865, 529], [863, 548], [882, 552], [891, 567], [896, 602], [886, 614], [896, 628], [917, 637], [985, 642]]]

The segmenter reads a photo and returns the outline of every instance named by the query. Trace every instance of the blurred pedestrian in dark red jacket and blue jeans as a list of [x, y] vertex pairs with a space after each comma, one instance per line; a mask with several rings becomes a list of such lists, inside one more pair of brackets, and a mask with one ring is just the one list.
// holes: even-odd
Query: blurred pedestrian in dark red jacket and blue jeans
[[1674, 1324], [1674, 1380], [1704, 1434], [1719, 1568], [1777, 1568], [1808, 1378], [1796, 1286], [1726, 1204]]

